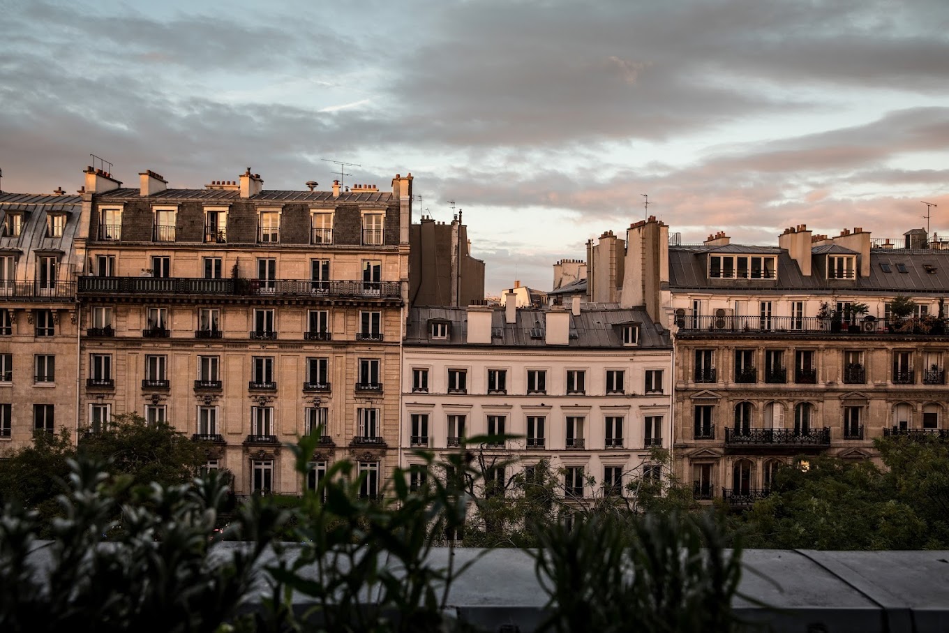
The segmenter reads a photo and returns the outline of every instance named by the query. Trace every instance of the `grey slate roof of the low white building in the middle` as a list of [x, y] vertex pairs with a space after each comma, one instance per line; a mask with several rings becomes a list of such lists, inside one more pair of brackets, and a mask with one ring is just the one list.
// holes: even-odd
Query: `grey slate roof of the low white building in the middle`
[[[519, 308], [516, 323], [505, 323], [503, 308], [492, 314], [493, 347], [548, 347], [544, 342], [545, 312], [534, 308]], [[639, 347], [671, 348], [668, 332], [660, 331], [649, 319], [642, 307], [583, 310], [579, 316], [570, 317], [570, 339], [567, 345], [550, 345], [558, 348], [616, 348], [623, 349], [621, 324], [640, 324]], [[448, 340], [429, 338], [428, 324], [431, 321], [451, 323]], [[530, 330], [540, 329], [540, 338], [531, 338]], [[409, 311], [405, 331], [406, 345], [464, 345], [468, 336], [468, 311], [464, 307], [414, 307]]]

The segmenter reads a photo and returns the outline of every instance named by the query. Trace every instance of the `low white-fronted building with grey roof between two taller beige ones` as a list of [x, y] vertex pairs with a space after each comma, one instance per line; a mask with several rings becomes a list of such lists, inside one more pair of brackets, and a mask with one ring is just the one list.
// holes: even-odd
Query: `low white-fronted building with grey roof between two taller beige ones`
[[672, 348], [641, 308], [522, 308], [511, 293], [502, 308], [414, 308], [406, 328], [403, 463], [419, 448], [512, 434], [523, 438], [483, 447], [488, 465], [514, 462], [489, 467], [489, 481], [541, 459], [564, 469], [573, 498], [661, 475], [650, 451], [670, 446]]

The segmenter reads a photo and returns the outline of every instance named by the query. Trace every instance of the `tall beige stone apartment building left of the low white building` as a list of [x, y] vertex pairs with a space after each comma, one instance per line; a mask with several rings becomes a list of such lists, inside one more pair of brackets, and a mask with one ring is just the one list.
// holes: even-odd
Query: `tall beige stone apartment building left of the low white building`
[[[235, 491], [299, 493], [334, 459], [398, 463], [412, 177], [392, 191], [202, 189], [86, 171], [79, 420], [139, 412], [208, 442]], [[323, 428], [298, 480], [281, 443]]]

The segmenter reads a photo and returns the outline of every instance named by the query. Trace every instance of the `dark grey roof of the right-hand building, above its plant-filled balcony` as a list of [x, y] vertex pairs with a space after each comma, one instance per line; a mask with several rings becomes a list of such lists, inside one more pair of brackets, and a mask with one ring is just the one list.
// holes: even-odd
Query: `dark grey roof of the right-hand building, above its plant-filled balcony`
[[[764, 252], [767, 247], [755, 247]], [[819, 247], [818, 247], [819, 248]], [[787, 291], [808, 291], [817, 294], [847, 293], [848, 291], [880, 293], [937, 293], [949, 295], [949, 251], [870, 251], [870, 274], [856, 280], [826, 279], [816, 267], [810, 276], [801, 274], [797, 262], [788, 251], [777, 249], [777, 280], [714, 279], [707, 277], [707, 247], [669, 247], [669, 288], [728, 289], [730, 292], [750, 294], [782, 294]], [[816, 249], [815, 249], [816, 251]], [[822, 254], [817, 253], [820, 257]], [[884, 272], [880, 264], [889, 264]], [[906, 267], [900, 272], [897, 264]], [[932, 270], [930, 272], [926, 267]]]

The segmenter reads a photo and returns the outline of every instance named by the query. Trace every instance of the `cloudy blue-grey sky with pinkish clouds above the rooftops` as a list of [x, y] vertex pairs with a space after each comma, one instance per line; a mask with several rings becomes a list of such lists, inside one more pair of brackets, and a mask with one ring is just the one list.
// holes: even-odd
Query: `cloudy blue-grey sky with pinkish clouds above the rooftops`
[[[0, 0], [0, 187], [390, 187], [463, 212], [486, 291], [654, 214], [949, 235], [946, 0]], [[338, 175], [335, 177], [339, 177]]]

